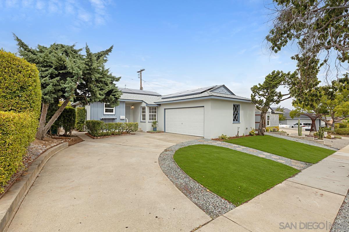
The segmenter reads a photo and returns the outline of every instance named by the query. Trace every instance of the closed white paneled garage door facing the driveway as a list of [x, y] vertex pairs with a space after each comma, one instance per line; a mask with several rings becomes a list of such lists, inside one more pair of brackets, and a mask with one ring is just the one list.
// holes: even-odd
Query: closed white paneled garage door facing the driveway
[[203, 137], [203, 130], [203, 107], [165, 110], [166, 132]]

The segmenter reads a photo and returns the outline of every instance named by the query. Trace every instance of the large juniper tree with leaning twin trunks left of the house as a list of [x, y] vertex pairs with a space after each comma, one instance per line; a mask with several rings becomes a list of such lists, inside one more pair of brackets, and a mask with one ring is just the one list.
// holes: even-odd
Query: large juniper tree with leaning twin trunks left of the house
[[[37, 139], [44, 138], [69, 101], [82, 104], [102, 101], [112, 106], [119, 104], [121, 92], [115, 84], [120, 78], [113, 76], [105, 67], [106, 56], [111, 53], [113, 46], [92, 53], [86, 45], [86, 55], [82, 55], [82, 49], [76, 49], [75, 45], [54, 43], [49, 47], [38, 45], [30, 48], [15, 34], [14, 38], [18, 53], [28, 62], [35, 63], [39, 70], [42, 107]], [[61, 106], [46, 123], [49, 105], [57, 105], [59, 101], [63, 101]]]

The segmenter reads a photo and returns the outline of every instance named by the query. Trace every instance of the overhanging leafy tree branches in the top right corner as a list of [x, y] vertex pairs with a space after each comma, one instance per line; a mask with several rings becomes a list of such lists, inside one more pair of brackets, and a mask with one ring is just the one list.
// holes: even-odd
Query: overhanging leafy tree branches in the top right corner
[[[349, 88], [349, 1], [348, 0], [273, 0], [272, 27], [266, 36], [267, 47], [275, 53], [287, 45], [296, 45], [292, 56], [306, 68], [303, 58], [319, 60], [329, 84], [333, 74], [341, 88]], [[341, 78], [342, 72], [344, 78]], [[306, 81], [307, 76], [299, 76]]]

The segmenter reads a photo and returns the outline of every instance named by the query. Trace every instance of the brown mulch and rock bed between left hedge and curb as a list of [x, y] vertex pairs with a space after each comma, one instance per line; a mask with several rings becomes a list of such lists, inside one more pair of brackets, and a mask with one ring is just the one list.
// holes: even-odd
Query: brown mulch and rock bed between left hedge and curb
[[72, 136], [72, 137], [65, 137], [65, 136], [45, 136], [44, 140], [35, 139], [31, 144], [28, 146], [27, 154], [23, 156], [23, 167], [21, 167], [15, 174], [11, 176], [11, 179], [7, 182], [7, 185], [3, 186], [5, 188], [5, 192], [0, 194], [0, 198], [3, 196], [3, 194], [6, 193], [6, 191], [9, 189], [9, 187], [15, 182], [18, 181], [20, 178], [20, 175], [24, 170], [28, 168], [28, 166], [37, 158], [39, 155], [41, 155], [46, 150], [50, 149], [51, 147], [57, 146], [58, 144], [68, 142], [68, 146], [74, 145], [76, 143], [82, 142], [83, 139], [81, 139], [78, 136]]

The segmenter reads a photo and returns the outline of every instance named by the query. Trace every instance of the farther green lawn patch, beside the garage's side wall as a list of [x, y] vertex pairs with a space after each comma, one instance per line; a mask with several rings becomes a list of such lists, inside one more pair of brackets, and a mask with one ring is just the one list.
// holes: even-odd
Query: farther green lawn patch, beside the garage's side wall
[[270, 135], [229, 139], [225, 142], [251, 147], [292, 160], [316, 163], [335, 151]]

